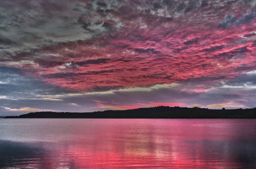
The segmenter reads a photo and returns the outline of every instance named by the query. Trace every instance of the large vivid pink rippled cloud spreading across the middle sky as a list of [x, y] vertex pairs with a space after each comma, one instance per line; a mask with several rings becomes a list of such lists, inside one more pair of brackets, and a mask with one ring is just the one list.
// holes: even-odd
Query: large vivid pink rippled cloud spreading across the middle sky
[[[236, 18], [245, 15], [242, 9], [238, 6]], [[137, 20], [131, 23], [120, 16], [120, 11], [112, 11], [125, 29], [93, 40], [19, 53], [13, 59], [24, 61], [18, 67], [28, 76], [79, 91], [147, 87], [202, 77], [230, 79], [243, 69], [255, 68], [256, 45], [244, 35], [255, 31], [256, 18], [223, 29], [219, 23], [225, 9], [220, 9], [219, 17], [203, 22], [199, 18], [206, 11], [194, 12], [197, 15], [177, 19], [150, 15], [155, 18], [150, 21], [145, 19], [149, 14], [143, 14], [147, 26], [141, 28], [136, 26]]]

